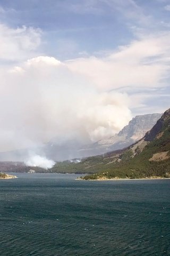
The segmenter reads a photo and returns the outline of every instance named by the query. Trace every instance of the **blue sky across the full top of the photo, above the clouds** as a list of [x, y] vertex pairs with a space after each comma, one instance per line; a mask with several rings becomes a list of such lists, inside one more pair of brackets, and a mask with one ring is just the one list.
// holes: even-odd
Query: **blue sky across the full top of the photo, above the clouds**
[[137, 37], [134, 29], [168, 30], [168, 4], [168, 0], [1, 0], [0, 21], [12, 28], [40, 28], [43, 52], [67, 60], [127, 45]]

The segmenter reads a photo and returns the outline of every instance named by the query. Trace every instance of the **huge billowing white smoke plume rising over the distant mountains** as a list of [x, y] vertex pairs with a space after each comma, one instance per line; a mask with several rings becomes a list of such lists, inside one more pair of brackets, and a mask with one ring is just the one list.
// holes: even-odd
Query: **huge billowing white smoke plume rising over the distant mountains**
[[0, 75], [1, 151], [37, 147], [54, 137], [56, 143], [90, 143], [120, 131], [132, 117], [127, 94], [100, 91], [52, 57], [0, 68]]

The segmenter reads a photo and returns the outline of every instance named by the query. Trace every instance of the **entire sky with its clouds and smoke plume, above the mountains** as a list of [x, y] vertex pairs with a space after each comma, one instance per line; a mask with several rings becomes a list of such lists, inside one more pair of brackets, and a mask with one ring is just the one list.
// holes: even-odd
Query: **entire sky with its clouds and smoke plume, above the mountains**
[[0, 0], [0, 151], [169, 108], [170, 0]]

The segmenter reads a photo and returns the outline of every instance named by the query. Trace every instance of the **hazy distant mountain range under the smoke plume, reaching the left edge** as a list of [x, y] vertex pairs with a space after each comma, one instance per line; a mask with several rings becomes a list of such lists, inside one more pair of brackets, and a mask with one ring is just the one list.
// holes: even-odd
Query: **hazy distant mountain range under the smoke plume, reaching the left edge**
[[0, 161], [24, 161], [30, 152], [46, 156], [54, 161], [64, 161], [72, 158], [83, 158], [104, 154], [108, 151], [128, 147], [141, 139], [157, 122], [162, 114], [148, 114], [134, 117], [118, 134], [96, 143], [82, 145], [79, 140], [66, 140], [59, 143], [52, 139], [41, 147], [18, 149], [0, 153]]

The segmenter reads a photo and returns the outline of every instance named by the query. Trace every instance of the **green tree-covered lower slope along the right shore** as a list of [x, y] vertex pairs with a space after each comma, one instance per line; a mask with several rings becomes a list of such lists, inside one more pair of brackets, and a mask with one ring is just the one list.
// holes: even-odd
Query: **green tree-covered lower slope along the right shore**
[[[160, 161], [149, 161], [156, 153], [168, 151], [170, 156], [170, 130], [169, 127], [164, 131], [160, 138], [156, 138], [150, 142], [145, 149], [131, 158], [130, 150], [123, 153], [123, 158], [119, 164], [109, 164], [103, 166], [103, 170], [99, 170], [97, 174], [88, 175], [84, 179], [96, 178], [146, 178], [146, 177], [170, 177], [170, 158]], [[121, 157], [120, 157], [121, 158]]]

